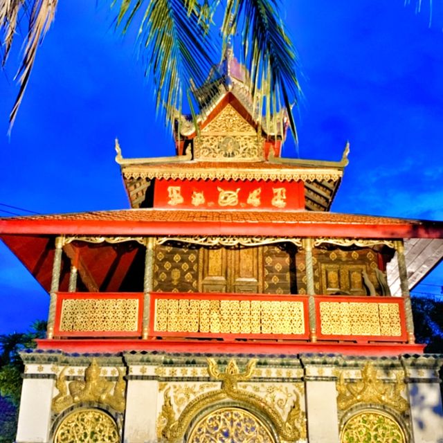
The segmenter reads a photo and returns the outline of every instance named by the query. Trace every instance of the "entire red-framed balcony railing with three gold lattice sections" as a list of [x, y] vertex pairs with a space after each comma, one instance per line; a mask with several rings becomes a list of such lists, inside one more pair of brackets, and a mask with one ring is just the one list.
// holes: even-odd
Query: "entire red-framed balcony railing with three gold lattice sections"
[[150, 293], [149, 309], [144, 299], [143, 293], [58, 293], [54, 336], [141, 338], [144, 312], [148, 338], [307, 342], [316, 329], [318, 341], [407, 341], [399, 297], [314, 296], [311, 316], [309, 296]]

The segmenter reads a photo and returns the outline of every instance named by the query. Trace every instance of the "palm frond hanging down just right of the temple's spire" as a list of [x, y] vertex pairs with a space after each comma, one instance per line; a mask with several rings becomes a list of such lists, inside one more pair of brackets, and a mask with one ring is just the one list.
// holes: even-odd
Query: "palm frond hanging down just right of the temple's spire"
[[280, 125], [275, 118], [282, 105], [297, 140], [291, 108], [298, 100], [296, 50], [278, 14], [278, 0], [228, 0], [222, 27], [224, 45], [241, 30], [244, 60], [251, 73], [253, 96], [260, 102], [266, 125]]

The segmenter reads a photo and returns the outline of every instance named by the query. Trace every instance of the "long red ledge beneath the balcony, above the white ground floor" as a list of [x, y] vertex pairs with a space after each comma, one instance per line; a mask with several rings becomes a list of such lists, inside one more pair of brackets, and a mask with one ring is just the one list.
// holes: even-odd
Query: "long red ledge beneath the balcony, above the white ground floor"
[[221, 342], [221, 341], [166, 341], [166, 340], [36, 340], [40, 350], [65, 352], [195, 352], [237, 354], [325, 353], [361, 356], [398, 356], [423, 354], [425, 345], [413, 344], [356, 344], [356, 343], [287, 343], [281, 341]]

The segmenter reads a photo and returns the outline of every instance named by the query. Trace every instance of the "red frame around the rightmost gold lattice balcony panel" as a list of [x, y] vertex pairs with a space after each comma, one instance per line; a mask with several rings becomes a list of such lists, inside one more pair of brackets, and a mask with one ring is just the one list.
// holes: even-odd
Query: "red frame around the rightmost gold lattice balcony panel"
[[[395, 303], [399, 305], [401, 335], [400, 336], [386, 336], [386, 335], [332, 335], [321, 333], [321, 318], [320, 318], [320, 302], [363, 302], [363, 303]], [[317, 323], [317, 338], [318, 340], [354, 340], [357, 343], [368, 343], [369, 341], [394, 341], [406, 342], [408, 336], [406, 332], [406, 318], [404, 311], [404, 299], [401, 297], [359, 297], [359, 296], [315, 296], [316, 303], [316, 323]]]

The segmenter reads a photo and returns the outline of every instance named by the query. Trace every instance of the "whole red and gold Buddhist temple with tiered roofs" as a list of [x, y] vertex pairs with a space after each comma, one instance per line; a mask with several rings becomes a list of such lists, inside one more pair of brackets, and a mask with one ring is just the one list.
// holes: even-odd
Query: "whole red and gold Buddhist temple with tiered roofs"
[[330, 212], [349, 145], [283, 158], [248, 84], [228, 51], [175, 156], [116, 141], [131, 208], [0, 219], [51, 298], [17, 442], [443, 441], [410, 302], [443, 223]]

